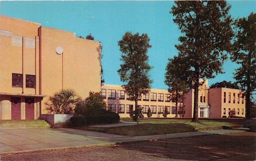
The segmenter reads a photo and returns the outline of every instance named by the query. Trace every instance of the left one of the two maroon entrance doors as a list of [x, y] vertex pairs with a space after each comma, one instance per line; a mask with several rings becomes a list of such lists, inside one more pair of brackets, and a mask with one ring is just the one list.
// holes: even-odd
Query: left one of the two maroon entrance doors
[[21, 98], [12, 97], [12, 120], [20, 120]]

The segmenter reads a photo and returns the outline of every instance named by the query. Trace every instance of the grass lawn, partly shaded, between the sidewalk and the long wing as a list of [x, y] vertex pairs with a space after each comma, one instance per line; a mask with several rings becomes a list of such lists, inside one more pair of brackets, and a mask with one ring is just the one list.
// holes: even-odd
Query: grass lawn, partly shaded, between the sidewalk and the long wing
[[[130, 118], [124, 118], [120, 121], [132, 122]], [[133, 122], [134, 123], [134, 122]], [[217, 130], [223, 127], [238, 127], [239, 125], [218, 122], [218, 121], [201, 121], [192, 123], [190, 120], [181, 119], [143, 119], [139, 125], [119, 126], [119, 127], [78, 127], [78, 129], [103, 132], [108, 134], [125, 135], [125, 136], [143, 136], [143, 135], [159, 135], [172, 134], [204, 130]]]

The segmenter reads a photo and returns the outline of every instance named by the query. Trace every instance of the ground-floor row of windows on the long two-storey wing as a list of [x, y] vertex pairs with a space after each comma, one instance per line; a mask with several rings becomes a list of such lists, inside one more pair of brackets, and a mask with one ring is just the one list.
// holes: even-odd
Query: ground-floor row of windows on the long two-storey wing
[[[149, 108], [152, 114], [156, 114], [156, 106], [143, 105], [142, 107], [143, 107], [142, 110], [144, 114], [148, 113]], [[178, 111], [179, 114], [182, 112], [181, 109], [182, 107], [179, 107], [179, 111]], [[126, 105], [126, 110], [124, 110], [124, 104], [117, 104], [117, 111], [116, 111], [116, 104], [108, 104], [108, 110], [112, 112], [117, 112], [117, 113], [124, 113], [124, 111], [126, 111], [126, 113], [129, 113], [130, 111], [133, 110], [133, 105]], [[168, 114], [170, 114], [171, 106], [167, 106], [167, 111], [168, 111]], [[164, 106], [158, 106], [157, 113], [163, 114]], [[176, 107], [172, 106], [172, 114], [175, 114], [175, 113], [176, 113]], [[185, 114], [185, 111], [183, 111], [183, 114]]]

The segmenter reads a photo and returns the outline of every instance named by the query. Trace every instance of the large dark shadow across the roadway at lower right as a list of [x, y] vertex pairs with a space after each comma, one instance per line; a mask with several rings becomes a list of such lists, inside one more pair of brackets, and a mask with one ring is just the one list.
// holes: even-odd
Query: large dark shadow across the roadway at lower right
[[[239, 134], [240, 133], [240, 134]], [[183, 160], [255, 160], [256, 134], [203, 135], [138, 143], [121, 143], [118, 147], [139, 150], [151, 156]]]

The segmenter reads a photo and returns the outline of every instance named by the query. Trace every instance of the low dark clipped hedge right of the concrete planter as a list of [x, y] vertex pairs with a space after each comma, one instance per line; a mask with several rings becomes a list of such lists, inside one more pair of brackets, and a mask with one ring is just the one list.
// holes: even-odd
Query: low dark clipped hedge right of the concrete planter
[[120, 121], [120, 116], [117, 113], [107, 113], [102, 115], [88, 115], [88, 116], [74, 115], [73, 117], [70, 118], [70, 122], [73, 126], [116, 123], [119, 121]]

